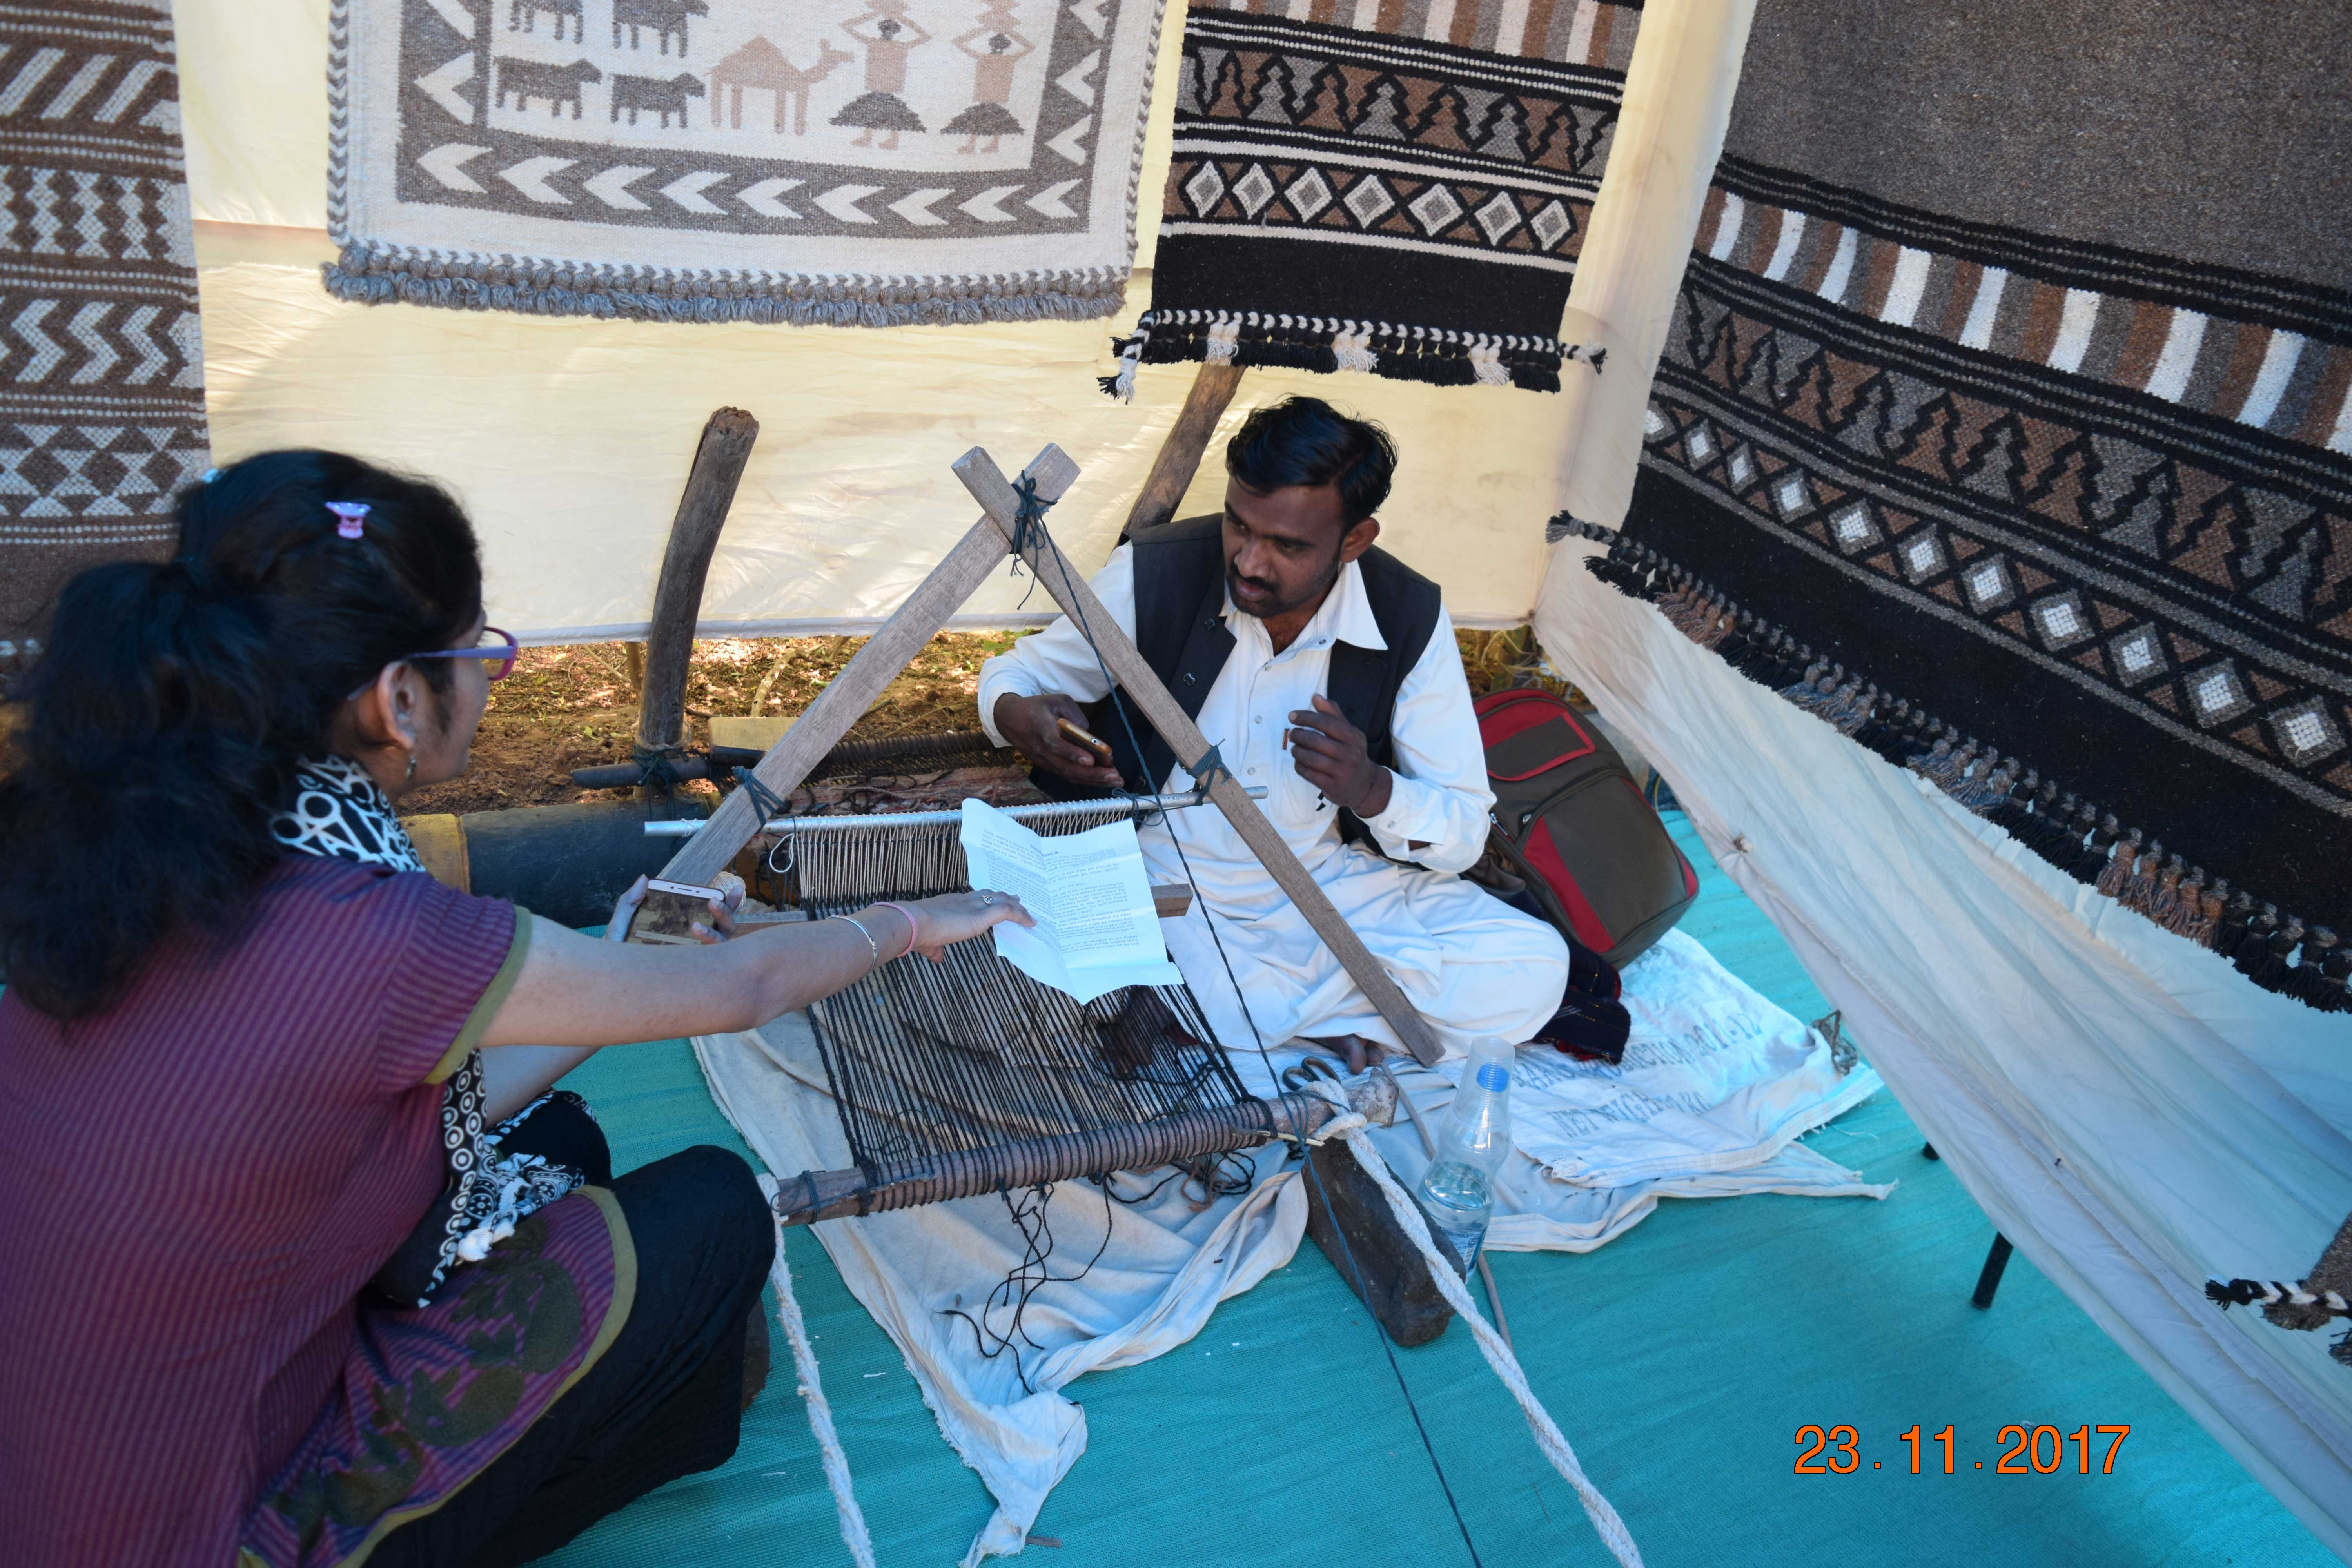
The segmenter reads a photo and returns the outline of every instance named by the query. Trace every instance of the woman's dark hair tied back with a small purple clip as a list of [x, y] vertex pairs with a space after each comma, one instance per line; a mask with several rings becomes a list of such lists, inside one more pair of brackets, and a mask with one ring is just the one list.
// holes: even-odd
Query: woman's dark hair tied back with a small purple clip
[[[360, 538], [329, 501], [367, 503]], [[174, 926], [226, 924], [278, 860], [270, 813], [358, 686], [482, 614], [442, 489], [266, 451], [179, 496], [179, 555], [73, 578], [0, 741], [0, 964], [54, 1018], [113, 1001]], [[447, 691], [449, 661], [416, 663]]]

